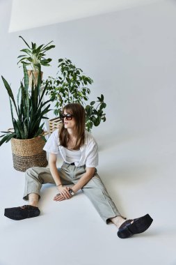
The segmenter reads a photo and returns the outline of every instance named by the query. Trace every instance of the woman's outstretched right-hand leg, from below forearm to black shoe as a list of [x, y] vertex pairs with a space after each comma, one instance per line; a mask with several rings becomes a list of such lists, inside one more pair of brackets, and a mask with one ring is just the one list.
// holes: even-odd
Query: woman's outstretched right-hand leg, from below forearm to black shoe
[[118, 212], [111, 197], [109, 197], [104, 184], [97, 174], [82, 188], [83, 192], [88, 195], [91, 202], [106, 222], [113, 222], [118, 227], [118, 237], [127, 239], [134, 234], [145, 232], [152, 224], [152, 218], [146, 214], [140, 218], [125, 220]]

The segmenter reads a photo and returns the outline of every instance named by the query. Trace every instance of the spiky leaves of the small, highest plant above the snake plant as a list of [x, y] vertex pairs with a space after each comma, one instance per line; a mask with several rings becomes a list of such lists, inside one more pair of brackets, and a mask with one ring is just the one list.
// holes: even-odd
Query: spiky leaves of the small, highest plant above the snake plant
[[[22, 38], [22, 36], [19, 36], [19, 38]], [[23, 52], [24, 54], [17, 57], [18, 59], [20, 58], [17, 64], [25, 63], [26, 66], [31, 66], [32, 70], [39, 70], [39, 65], [50, 66], [49, 63], [52, 61], [52, 59], [45, 59], [45, 53], [55, 47], [55, 45], [49, 46], [49, 44], [53, 41], [50, 41], [50, 43], [47, 43], [47, 45], [42, 44], [38, 47], [36, 43], [31, 42], [30, 47], [24, 38], [22, 38], [22, 40], [26, 44], [27, 48], [20, 50], [20, 52]]]

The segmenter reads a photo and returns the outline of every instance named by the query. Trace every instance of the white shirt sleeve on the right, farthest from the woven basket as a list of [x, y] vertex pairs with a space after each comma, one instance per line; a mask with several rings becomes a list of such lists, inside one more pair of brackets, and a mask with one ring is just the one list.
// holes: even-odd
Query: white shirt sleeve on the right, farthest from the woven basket
[[95, 139], [91, 139], [86, 150], [86, 167], [97, 167], [98, 145]]

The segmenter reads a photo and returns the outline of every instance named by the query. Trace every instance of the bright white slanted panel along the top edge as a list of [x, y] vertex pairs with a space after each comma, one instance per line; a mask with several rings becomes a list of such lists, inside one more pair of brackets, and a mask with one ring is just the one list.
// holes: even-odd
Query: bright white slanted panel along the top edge
[[9, 31], [77, 20], [163, 0], [13, 0]]

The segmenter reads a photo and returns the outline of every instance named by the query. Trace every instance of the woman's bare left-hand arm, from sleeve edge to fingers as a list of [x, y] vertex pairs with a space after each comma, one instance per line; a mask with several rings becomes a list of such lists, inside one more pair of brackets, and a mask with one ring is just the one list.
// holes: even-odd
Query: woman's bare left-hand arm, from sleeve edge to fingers
[[54, 153], [49, 153], [49, 169], [56, 185], [58, 186], [58, 191], [61, 193], [61, 195], [63, 195], [65, 199], [70, 199], [70, 197], [72, 197], [72, 195], [70, 195], [69, 192], [70, 188], [63, 187], [61, 178], [58, 174], [58, 169], [56, 167], [56, 161], [57, 161], [57, 155], [55, 155]]

